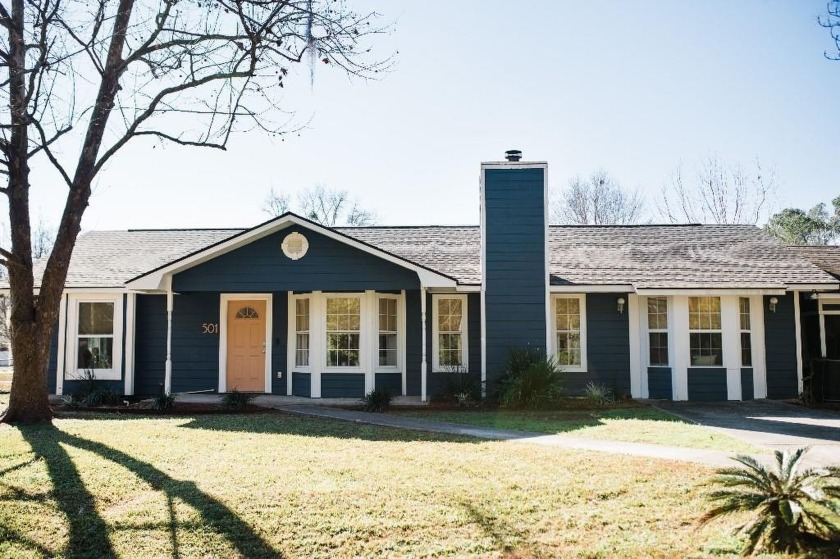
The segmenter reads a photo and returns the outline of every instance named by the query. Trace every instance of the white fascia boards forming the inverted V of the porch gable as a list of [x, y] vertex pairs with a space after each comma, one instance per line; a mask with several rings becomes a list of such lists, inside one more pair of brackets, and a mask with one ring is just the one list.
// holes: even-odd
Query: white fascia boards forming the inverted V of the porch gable
[[420, 278], [420, 284], [426, 287], [455, 287], [457, 285], [457, 282], [452, 278], [438, 274], [416, 264], [412, 264], [398, 256], [394, 256], [383, 250], [364, 244], [352, 237], [337, 233], [328, 227], [317, 225], [310, 221], [301, 219], [296, 215], [287, 215], [280, 220], [264, 223], [256, 229], [237, 235], [232, 239], [228, 239], [227, 241], [223, 241], [217, 245], [206, 248], [193, 254], [192, 256], [184, 258], [183, 260], [179, 260], [178, 262], [164, 266], [163, 268], [145, 276], [127, 282], [126, 288], [139, 291], [157, 291], [165, 289], [164, 281], [167, 277], [171, 277], [172, 274], [203, 264], [208, 260], [212, 260], [213, 258], [231, 252], [278, 231], [282, 231], [283, 229], [287, 229], [293, 225], [309, 229], [310, 231], [314, 231], [340, 243], [344, 243], [363, 252], [367, 252], [368, 254], [372, 254], [378, 258], [391, 262], [392, 264], [412, 270], [416, 272], [417, 276]]

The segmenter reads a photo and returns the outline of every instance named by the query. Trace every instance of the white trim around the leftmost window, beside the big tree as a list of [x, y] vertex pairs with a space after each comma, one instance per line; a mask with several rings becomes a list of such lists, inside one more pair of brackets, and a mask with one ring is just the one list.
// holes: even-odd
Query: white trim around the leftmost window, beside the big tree
[[[110, 369], [91, 369], [96, 380], [122, 380], [123, 354], [123, 294], [122, 293], [71, 293], [68, 297], [67, 308], [67, 339], [65, 346], [64, 380], [79, 380], [84, 371], [77, 368], [79, 362], [79, 304], [80, 303], [113, 303], [114, 304], [114, 333], [112, 367]], [[62, 387], [63, 388], [63, 387]]]

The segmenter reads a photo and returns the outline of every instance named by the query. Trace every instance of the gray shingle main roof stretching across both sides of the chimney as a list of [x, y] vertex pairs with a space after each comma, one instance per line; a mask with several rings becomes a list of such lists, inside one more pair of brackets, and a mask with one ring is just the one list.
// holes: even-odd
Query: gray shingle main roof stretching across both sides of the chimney
[[[337, 230], [454, 277], [461, 284], [481, 281], [480, 233], [476, 226]], [[79, 238], [67, 285], [119, 287], [241, 231], [93, 231]], [[781, 288], [837, 282], [753, 226], [552, 226], [549, 246], [553, 285]], [[40, 277], [38, 270], [36, 277]]]

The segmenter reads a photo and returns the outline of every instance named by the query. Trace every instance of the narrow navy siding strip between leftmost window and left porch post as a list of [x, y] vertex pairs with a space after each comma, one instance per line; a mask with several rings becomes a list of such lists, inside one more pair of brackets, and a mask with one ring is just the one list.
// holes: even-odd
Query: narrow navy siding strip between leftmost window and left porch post
[[166, 297], [138, 295], [134, 316], [134, 393], [155, 395], [166, 375]]

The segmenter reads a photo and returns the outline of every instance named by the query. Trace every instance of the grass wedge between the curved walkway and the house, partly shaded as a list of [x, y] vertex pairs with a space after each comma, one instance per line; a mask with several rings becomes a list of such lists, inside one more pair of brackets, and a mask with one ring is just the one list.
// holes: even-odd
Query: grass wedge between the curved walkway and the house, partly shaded
[[652, 443], [727, 452], [767, 452], [707, 427], [684, 421], [657, 408], [638, 404], [617, 405], [621, 407], [538, 411], [432, 408], [427, 410], [395, 410], [393, 413], [434, 421], [448, 421], [535, 433], [562, 433], [591, 439]]

